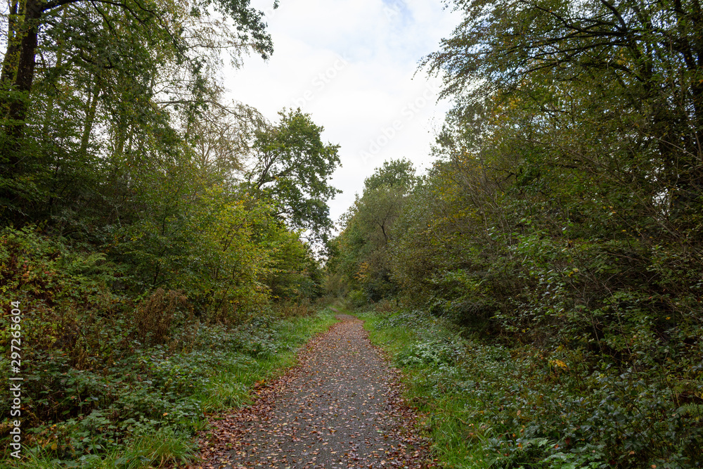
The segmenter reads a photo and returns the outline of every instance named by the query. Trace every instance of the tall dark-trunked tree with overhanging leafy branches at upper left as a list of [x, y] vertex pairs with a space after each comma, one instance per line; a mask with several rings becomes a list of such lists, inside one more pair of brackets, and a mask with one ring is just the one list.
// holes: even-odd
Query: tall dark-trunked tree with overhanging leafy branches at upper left
[[[72, 94], [86, 103], [84, 127], [63, 139], [79, 140], [78, 151], [64, 146], [62, 158], [85, 155], [102, 105], [108, 122], [101, 135], [112, 133], [113, 148], [121, 154], [140, 117], [151, 114], [174, 127], [177, 115], [193, 115], [212, 101], [209, 77], [223, 49], [234, 58], [249, 49], [268, 56], [271, 38], [262, 15], [248, 0], [13, 2], [0, 72], [3, 217], [18, 222], [33, 217], [32, 205], [46, 198], [41, 174], [56, 160], [45, 147], [50, 140], [37, 139], [34, 127], [39, 120], [51, 122], [62, 103], [53, 99], [49, 115], [41, 117], [44, 96]], [[65, 89], [71, 92], [62, 93]], [[164, 127], [157, 131], [169, 133]]]

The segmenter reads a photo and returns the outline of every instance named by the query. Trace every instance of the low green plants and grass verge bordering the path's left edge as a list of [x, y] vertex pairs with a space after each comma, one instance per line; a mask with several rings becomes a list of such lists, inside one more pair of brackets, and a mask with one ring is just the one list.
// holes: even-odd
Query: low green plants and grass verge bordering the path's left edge
[[[103, 369], [72, 368], [60, 351], [37, 355], [45, 368], [25, 374], [22, 461], [8, 457], [10, 419], [2, 424], [2, 458], [11, 468], [193, 461], [195, 433], [205, 428], [207, 414], [249, 403], [254, 383], [291, 366], [297, 347], [333, 322], [322, 312], [263, 318], [233, 330], [201, 327], [187, 349], [139, 347]], [[7, 373], [6, 361], [3, 368]], [[3, 397], [4, 416], [9, 401]]]

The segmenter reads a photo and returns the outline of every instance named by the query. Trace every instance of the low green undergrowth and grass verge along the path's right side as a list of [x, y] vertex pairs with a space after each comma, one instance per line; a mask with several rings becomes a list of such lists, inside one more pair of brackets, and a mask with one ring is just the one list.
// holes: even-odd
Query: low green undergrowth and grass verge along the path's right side
[[681, 400], [703, 397], [701, 369], [622, 370], [563, 347], [505, 347], [422, 311], [359, 317], [403, 369], [441, 467], [703, 465], [703, 406]]

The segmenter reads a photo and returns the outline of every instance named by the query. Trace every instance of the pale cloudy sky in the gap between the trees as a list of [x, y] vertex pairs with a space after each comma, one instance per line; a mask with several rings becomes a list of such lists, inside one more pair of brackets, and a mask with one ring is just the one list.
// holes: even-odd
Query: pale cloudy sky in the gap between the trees
[[228, 73], [231, 97], [269, 120], [302, 108], [325, 127], [323, 141], [340, 145], [342, 167], [330, 201], [336, 221], [361, 193], [363, 179], [385, 160], [405, 157], [423, 169], [447, 103], [439, 82], [418, 72], [458, 18], [439, 0], [253, 0], [266, 12], [274, 52], [245, 58]]

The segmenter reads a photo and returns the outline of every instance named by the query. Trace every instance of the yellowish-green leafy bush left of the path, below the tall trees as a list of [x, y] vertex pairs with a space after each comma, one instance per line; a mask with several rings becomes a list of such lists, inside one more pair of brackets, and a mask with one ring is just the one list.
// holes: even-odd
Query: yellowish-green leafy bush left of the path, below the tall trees
[[266, 205], [218, 186], [205, 188], [198, 203], [177, 195], [157, 195], [159, 205], [116, 232], [115, 254], [136, 266], [141, 285], [183, 290], [199, 315], [247, 319], [268, 300], [262, 281], [278, 250], [269, 238], [284, 229], [271, 222]]

